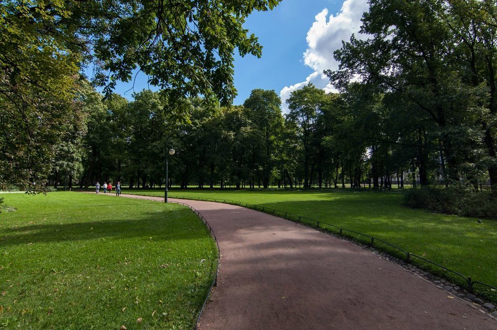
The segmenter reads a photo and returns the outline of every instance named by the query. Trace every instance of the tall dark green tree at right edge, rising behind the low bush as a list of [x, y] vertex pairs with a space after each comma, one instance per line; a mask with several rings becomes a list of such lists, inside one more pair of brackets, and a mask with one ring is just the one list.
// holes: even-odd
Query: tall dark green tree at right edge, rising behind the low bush
[[[495, 2], [372, 0], [370, 4], [361, 32], [371, 38], [352, 37], [335, 52], [340, 65], [327, 72], [331, 82], [344, 91], [356, 75], [402, 102], [391, 108], [417, 127], [422, 181], [428, 170], [423, 164], [438, 158], [439, 165], [433, 165], [452, 182], [463, 177], [474, 181], [472, 177], [486, 163], [494, 183], [495, 131], [488, 128], [495, 113], [495, 29], [488, 21], [495, 17]], [[493, 46], [488, 47], [485, 39], [493, 40]], [[482, 157], [484, 150], [487, 157]]]

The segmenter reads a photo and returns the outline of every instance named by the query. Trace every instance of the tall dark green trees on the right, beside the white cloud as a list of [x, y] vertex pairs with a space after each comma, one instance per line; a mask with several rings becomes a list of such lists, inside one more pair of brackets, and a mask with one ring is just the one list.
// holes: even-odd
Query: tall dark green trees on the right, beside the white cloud
[[[421, 185], [497, 184], [497, 5], [370, 0], [361, 32], [335, 52], [331, 82], [357, 107], [372, 171], [388, 157]], [[354, 77], [356, 83], [350, 83]], [[362, 118], [362, 121], [361, 121]]]

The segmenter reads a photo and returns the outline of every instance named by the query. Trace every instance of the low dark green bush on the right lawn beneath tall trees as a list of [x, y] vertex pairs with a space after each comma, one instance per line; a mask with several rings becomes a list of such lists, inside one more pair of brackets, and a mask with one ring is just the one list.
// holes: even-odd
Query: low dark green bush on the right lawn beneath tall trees
[[409, 189], [404, 205], [438, 213], [497, 219], [497, 194], [463, 185]]

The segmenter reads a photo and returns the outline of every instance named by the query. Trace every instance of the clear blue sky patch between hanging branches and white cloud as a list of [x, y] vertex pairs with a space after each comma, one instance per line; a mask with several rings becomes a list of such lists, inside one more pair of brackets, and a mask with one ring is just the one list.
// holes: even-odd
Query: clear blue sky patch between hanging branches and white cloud
[[253, 88], [274, 89], [305, 80], [313, 69], [303, 62], [307, 49], [306, 36], [315, 16], [324, 8], [340, 9], [341, 2], [332, 0], [283, 0], [272, 11], [252, 13], [244, 25], [255, 33], [263, 46], [262, 57], [236, 57], [235, 104], [242, 104]]

